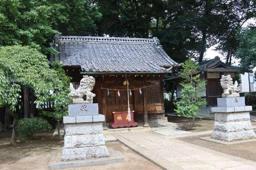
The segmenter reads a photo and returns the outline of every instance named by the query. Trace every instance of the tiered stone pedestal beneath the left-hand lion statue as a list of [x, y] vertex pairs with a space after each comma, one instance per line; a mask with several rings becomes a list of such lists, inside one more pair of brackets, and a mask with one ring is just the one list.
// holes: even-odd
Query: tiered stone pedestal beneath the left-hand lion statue
[[64, 147], [62, 160], [108, 157], [98, 103], [68, 105], [68, 116], [63, 117]]

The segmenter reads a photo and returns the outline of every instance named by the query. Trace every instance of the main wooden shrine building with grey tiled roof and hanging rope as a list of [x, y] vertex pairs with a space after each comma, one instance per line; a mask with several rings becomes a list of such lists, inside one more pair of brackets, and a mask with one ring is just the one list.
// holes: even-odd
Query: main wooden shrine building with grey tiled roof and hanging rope
[[60, 53], [52, 55], [50, 62], [60, 60], [75, 88], [82, 75], [96, 79], [93, 103], [106, 117], [104, 127], [113, 113], [127, 111], [128, 95], [134, 121], [148, 125], [148, 120], [165, 119], [163, 77], [179, 64], [157, 38], [55, 36], [52, 45]]

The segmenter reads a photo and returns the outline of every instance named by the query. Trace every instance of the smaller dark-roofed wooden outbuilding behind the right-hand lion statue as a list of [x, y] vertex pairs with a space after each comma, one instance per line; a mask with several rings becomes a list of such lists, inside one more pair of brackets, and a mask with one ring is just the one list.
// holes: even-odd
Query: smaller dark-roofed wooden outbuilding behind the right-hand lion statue
[[[240, 67], [223, 63], [218, 56], [214, 57], [214, 59], [198, 63], [198, 68], [194, 75], [200, 74], [200, 79], [207, 81], [204, 91], [199, 93], [206, 99], [207, 105], [200, 108], [198, 116], [214, 114], [212, 107], [217, 107], [217, 98], [222, 97], [223, 93], [223, 89], [220, 85], [221, 75], [230, 75], [234, 83], [234, 81], [238, 80], [239, 70]], [[182, 86], [180, 85], [182, 77], [180, 77], [180, 73], [165, 77], [165, 81], [166, 83], [172, 81], [177, 100], [180, 100], [180, 92], [182, 90]]]

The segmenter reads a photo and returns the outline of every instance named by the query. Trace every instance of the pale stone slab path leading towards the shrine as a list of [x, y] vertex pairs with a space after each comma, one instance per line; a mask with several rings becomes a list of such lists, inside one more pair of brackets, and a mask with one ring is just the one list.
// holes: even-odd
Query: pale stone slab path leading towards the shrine
[[[208, 134], [209, 131], [196, 133], [198, 133], [198, 135], [204, 133]], [[194, 136], [196, 133], [189, 134]], [[256, 169], [256, 162], [183, 142], [177, 138], [172, 138], [172, 135], [165, 136], [150, 130], [142, 132], [116, 133], [113, 135], [124, 145], [163, 169]], [[186, 133], [186, 135], [188, 135], [188, 133]]]

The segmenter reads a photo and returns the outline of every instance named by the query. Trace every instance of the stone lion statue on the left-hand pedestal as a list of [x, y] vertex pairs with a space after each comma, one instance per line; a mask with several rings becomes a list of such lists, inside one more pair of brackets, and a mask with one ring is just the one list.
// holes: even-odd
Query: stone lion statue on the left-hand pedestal
[[[95, 85], [95, 79], [92, 76], [83, 75], [84, 78], [81, 79], [80, 85], [77, 89], [74, 89], [73, 84], [70, 83], [70, 93], [68, 97], [76, 103], [92, 103], [93, 97], [96, 95], [92, 93], [92, 89]], [[83, 97], [86, 95], [86, 101]]]

